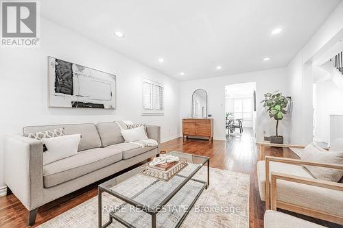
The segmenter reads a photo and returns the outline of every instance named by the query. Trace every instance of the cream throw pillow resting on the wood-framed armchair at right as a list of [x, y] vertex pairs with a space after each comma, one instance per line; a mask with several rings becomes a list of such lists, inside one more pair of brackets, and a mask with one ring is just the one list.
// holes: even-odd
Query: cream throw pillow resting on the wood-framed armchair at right
[[[326, 164], [343, 164], [343, 151], [326, 151], [314, 144], [309, 144], [303, 150], [301, 160]], [[307, 165], [303, 165], [303, 167], [307, 168], [316, 179], [338, 182], [343, 176], [343, 170]]]

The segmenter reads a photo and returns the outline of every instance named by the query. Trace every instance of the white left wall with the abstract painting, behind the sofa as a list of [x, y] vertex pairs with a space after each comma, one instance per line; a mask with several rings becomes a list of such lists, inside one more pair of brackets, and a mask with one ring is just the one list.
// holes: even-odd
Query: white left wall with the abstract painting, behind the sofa
[[[117, 110], [48, 108], [49, 55], [117, 75]], [[180, 135], [178, 81], [45, 19], [39, 48], [0, 50], [0, 75], [0, 186], [3, 137], [20, 134], [25, 125], [132, 120], [160, 125], [162, 140]], [[164, 116], [141, 116], [142, 77], [164, 84]]]

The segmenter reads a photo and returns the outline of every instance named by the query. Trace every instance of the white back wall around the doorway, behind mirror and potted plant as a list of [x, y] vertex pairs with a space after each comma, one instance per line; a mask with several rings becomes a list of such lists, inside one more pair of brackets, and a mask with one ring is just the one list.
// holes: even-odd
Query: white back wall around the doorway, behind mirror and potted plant
[[[208, 94], [209, 114], [214, 119], [214, 138], [225, 140], [225, 86], [244, 82], [256, 82], [257, 88], [257, 140], [263, 140], [263, 131], [267, 135], [275, 134], [276, 121], [271, 120], [259, 101], [264, 99], [263, 94], [280, 90], [288, 95], [286, 68], [275, 68], [268, 71], [257, 71], [228, 75], [223, 77], [211, 77], [192, 81], [180, 82], [180, 119], [191, 114], [191, 95], [194, 90], [202, 88]], [[279, 124], [279, 132], [288, 141], [288, 117]]]

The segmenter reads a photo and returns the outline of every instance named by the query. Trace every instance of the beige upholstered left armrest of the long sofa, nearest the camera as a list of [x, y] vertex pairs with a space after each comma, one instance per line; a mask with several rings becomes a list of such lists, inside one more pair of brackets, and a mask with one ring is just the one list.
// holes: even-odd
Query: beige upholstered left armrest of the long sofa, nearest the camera
[[23, 203], [32, 210], [34, 199], [43, 193], [43, 143], [24, 136], [5, 136], [5, 183]]

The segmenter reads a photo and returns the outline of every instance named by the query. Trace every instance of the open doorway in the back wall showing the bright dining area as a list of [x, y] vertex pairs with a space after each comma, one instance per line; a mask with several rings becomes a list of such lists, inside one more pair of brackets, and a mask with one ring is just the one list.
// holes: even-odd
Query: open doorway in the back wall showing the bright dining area
[[225, 86], [226, 139], [256, 138], [256, 82]]

